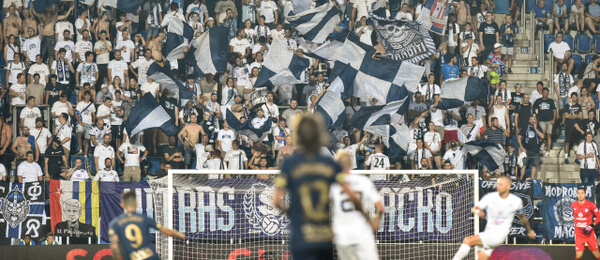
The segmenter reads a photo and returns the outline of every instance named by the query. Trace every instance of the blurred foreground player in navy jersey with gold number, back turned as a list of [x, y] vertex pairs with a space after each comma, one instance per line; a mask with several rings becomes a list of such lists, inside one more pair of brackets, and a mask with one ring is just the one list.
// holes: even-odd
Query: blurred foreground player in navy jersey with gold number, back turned
[[[362, 208], [356, 194], [344, 182], [340, 166], [332, 158], [319, 155], [329, 138], [322, 122], [323, 118], [316, 115], [299, 119], [297, 127], [293, 127], [298, 150], [283, 162], [281, 175], [275, 181], [273, 203], [287, 211], [290, 218], [290, 249], [294, 259], [333, 259], [329, 205], [332, 183], [340, 183], [355, 207]], [[289, 207], [283, 203], [287, 192]]]

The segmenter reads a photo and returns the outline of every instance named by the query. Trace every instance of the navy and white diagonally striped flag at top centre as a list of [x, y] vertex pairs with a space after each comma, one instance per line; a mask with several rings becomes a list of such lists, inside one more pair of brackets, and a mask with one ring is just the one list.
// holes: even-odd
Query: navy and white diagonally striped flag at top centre
[[340, 10], [332, 3], [286, 15], [289, 22], [307, 40], [323, 43], [340, 22]]

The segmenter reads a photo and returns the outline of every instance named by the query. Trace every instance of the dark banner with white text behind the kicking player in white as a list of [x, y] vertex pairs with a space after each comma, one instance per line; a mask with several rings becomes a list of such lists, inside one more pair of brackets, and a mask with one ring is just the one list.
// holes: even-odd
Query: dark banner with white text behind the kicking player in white
[[[480, 181], [479, 182], [479, 195], [480, 195], [479, 199], [481, 199], [481, 197], [483, 197], [485, 194], [487, 194], [489, 192], [495, 192], [496, 191], [496, 183], [497, 182], [495, 180], [494, 181], [492, 181], [492, 180]], [[515, 181], [512, 183], [512, 186], [510, 187], [510, 191], [512, 194], [519, 197], [523, 201], [523, 213], [525, 214], [525, 216], [527, 216], [527, 219], [529, 220], [533, 216], [533, 212], [534, 212], [533, 199], [531, 199], [531, 197], [533, 196], [533, 186], [531, 185], [531, 182]], [[515, 215], [515, 218], [513, 219], [513, 225], [510, 228], [510, 233], [508, 233], [508, 235], [516, 236], [516, 237], [526, 237], [527, 236], [525, 227], [523, 227], [523, 223], [521, 223], [521, 220], [519, 220], [517, 215]]]

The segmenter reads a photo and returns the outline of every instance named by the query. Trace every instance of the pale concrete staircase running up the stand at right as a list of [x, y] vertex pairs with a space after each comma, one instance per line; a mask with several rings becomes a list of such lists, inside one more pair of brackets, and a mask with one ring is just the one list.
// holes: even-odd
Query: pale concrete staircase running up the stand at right
[[[508, 83], [508, 88], [514, 91], [514, 86], [520, 83], [522, 92], [531, 94], [536, 90], [538, 81], [542, 81], [545, 87], [550, 89], [550, 96], [555, 99], [558, 106], [557, 95], [554, 91], [554, 83], [552, 82], [553, 73], [551, 70], [550, 55], [544, 51], [543, 36], [541, 32], [535, 36], [534, 42], [531, 42], [532, 16], [525, 15], [525, 26], [519, 26], [519, 33], [515, 39], [515, 48], [513, 56], [513, 74], [505, 74], [503, 79]], [[496, 15], [498, 25], [502, 24], [504, 15]], [[547, 33], [547, 31], [545, 32]], [[572, 33], [575, 36], [575, 33]], [[537, 169], [536, 179], [541, 179], [546, 182], [553, 183], [577, 183], [580, 182], [579, 164], [575, 164], [575, 147], [571, 148], [569, 156], [569, 164], [564, 163], [564, 129], [560, 131], [559, 137], [553, 140], [550, 156], [541, 158], [541, 165]], [[543, 155], [543, 153], [542, 153]]]

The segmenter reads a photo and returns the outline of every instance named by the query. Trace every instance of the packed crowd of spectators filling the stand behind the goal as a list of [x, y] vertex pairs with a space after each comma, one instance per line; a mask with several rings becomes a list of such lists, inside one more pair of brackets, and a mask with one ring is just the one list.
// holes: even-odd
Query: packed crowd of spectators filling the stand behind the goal
[[[137, 13], [102, 6], [103, 1], [77, 7], [60, 2], [38, 13], [32, 2], [4, 1], [0, 16], [0, 64], [5, 72], [0, 90], [0, 175], [4, 180], [138, 181], [147, 177], [151, 165], [160, 165], [152, 172], [159, 177], [168, 169], [274, 169], [294, 151], [289, 130], [294, 117], [314, 112], [319, 95], [329, 85], [333, 64], [311, 58], [304, 84], [279, 85], [272, 91], [254, 87], [273, 42], [298, 55], [315, 47], [286, 24], [286, 1], [150, 0]], [[313, 7], [324, 2], [314, 1]], [[339, 28], [385, 52], [367, 23], [365, 1], [332, 2], [341, 10]], [[417, 19], [424, 1], [402, 2], [397, 8], [388, 4], [387, 18]], [[484, 178], [506, 174], [524, 179], [535, 178], [540, 157], [549, 156], [554, 138], [564, 129], [565, 158], [569, 148], [591, 135], [576, 153], [582, 169], [596, 174], [597, 143], [591, 139], [598, 141], [600, 127], [594, 91], [600, 58], [594, 56], [581, 69], [586, 70], [582, 73], [586, 80], [574, 77], [578, 71], [561, 31], [574, 25], [578, 33], [586, 29], [595, 33], [600, 17], [596, 0], [585, 5], [577, 0], [570, 8], [563, 0], [553, 6], [538, 0], [533, 11], [539, 27], [555, 33], [549, 49], [557, 74], [552, 86], [539, 82], [532, 93], [502, 79], [512, 73], [520, 1], [470, 2], [452, 3], [446, 31], [432, 34], [437, 50], [421, 62], [426, 73], [409, 112], [391, 116], [390, 124], [411, 129], [407, 155], [389, 158], [381, 136], [348, 124], [361, 107], [381, 103], [354, 97], [345, 101], [346, 123], [331, 132], [335, 140], [328, 150], [350, 152], [354, 169], [480, 169]], [[495, 17], [503, 23], [497, 24]], [[172, 19], [186, 21], [195, 38], [215, 26], [229, 32], [226, 72], [197, 78], [185, 60], [171, 64], [174, 75], [194, 93], [187, 104], [179, 104], [146, 75]], [[488, 82], [488, 97], [460, 108], [438, 109], [444, 81], [467, 76]], [[127, 136], [127, 119], [146, 93], [180, 128], [177, 136], [160, 130]], [[256, 128], [274, 118], [271, 131], [258, 139], [236, 132], [224, 120], [228, 109]], [[507, 153], [504, 163], [488, 171], [469, 156], [464, 160], [458, 132], [468, 140], [487, 139], [501, 145]], [[525, 174], [526, 169], [531, 169], [530, 174]], [[387, 178], [380, 176], [373, 178]], [[589, 181], [596, 179], [589, 176]]]

